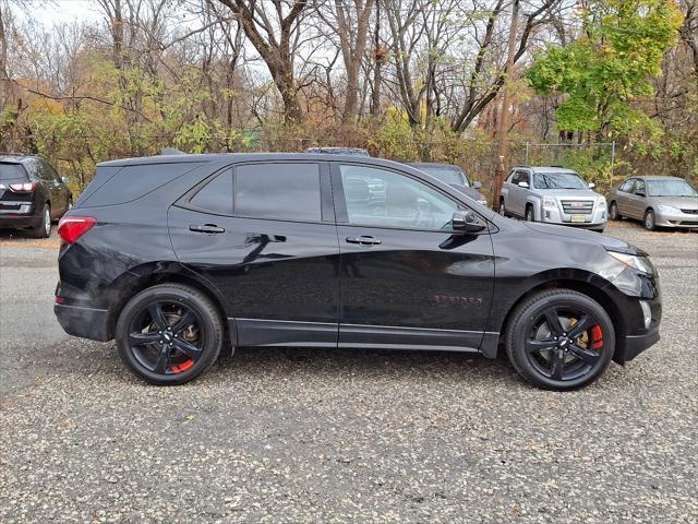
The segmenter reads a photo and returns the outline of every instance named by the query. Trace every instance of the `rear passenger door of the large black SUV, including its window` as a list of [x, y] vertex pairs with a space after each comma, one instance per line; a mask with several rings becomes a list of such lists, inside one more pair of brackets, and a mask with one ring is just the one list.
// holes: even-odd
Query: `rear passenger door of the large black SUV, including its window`
[[336, 347], [334, 221], [328, 167], [314, 162], [226, 168], [168, 212], [177, 258], [218, 288], [240, 346]]

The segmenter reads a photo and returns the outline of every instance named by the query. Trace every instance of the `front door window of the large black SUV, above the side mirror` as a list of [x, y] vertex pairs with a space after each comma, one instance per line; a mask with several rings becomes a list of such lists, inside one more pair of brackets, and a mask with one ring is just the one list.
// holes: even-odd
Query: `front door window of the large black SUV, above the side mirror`
[[366, 166], [340, 166], [349, 224], [450, 230], [458, 204], [412, 178]]

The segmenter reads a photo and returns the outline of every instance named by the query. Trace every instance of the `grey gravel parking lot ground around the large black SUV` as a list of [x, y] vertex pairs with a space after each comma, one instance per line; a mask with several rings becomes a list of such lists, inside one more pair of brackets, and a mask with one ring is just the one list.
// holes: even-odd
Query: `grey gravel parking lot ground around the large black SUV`
[[0, 237], [0, 522], [698, 522], [698, 235], [662, 341], [552, 393], [472, 355], [242, 349], [180, 388], [56, 324], [51, 241]]

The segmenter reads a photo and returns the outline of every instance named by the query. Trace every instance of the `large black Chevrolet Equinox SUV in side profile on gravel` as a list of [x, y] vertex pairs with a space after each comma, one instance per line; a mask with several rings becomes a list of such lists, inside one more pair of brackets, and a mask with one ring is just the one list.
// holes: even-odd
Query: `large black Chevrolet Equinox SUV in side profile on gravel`
[[[377, 182], [381, 205], [364, 205]], [[526, 379], [568, 390], [659, 340], [647, 253], [502, 217], [377, 158], [108, 162], [59, 235], [59, 322], [73, 335], [116, 337], [125, 365], [156, 384], [200, 376], [224, 347], [493, 358], [503, 346]]]

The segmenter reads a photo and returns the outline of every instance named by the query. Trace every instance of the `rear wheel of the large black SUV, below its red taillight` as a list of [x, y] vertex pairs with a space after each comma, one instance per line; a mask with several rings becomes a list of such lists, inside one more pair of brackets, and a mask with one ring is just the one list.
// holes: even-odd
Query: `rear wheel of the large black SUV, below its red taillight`
[[[178, 323], [183, 323], [181, 329]], [[180, 284], [160, 284], [139, 293], [125, 305], [116, 326], [123, 364], [156, 385], [183, 384], [204, 373], [218, 358], [224, 337], [216, 306], [197, 289]]]

